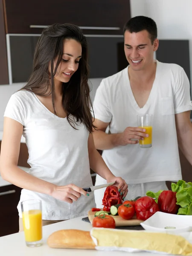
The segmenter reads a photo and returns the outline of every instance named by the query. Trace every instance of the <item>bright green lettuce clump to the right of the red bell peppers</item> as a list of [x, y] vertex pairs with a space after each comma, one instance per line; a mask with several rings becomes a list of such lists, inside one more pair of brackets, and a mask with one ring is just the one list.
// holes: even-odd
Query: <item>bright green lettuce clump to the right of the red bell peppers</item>
[[180, 205], [177, 214], [192, 215], [192, 182], [178, 180], [176, 184], [172, 183], [172, 191], [177, 192], [177, 204]]

